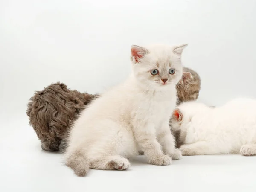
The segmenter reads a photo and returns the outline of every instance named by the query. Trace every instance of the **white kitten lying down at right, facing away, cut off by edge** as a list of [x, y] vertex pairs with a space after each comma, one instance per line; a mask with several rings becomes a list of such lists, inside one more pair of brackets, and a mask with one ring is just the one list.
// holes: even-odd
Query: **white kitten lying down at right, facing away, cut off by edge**
[[221, 107], [188, 102], [172, 115], [182, 155], [256, 155], [256, 100], [234, 99]]

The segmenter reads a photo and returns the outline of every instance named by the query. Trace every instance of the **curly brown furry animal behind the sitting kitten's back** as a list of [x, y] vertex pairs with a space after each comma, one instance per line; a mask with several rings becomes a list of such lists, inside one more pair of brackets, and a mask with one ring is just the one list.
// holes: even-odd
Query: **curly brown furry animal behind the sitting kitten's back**
[[70, 124], [98, 96], [70, 90], [59, 82], [36, 91], [29, 99], [26, 114], [29, 116], [29, 124], [41, 140], [41, 148], [58, 151]]

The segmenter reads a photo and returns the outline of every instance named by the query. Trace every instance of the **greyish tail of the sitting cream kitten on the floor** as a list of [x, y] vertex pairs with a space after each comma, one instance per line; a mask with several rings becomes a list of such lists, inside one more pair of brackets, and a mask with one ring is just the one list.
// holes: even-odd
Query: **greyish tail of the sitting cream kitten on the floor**
[[79, 177], [86, 175], [90, 169], [85, 152], [81, 150], [67, 155], [66, 166], [73, 169], [75, 174]]

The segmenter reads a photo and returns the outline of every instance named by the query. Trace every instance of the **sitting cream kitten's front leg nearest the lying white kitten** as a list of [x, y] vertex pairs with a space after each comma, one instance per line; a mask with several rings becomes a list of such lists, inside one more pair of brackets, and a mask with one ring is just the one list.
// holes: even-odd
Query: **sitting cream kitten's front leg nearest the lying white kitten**
[[175, 148], [175, 139], [168, 123], [162, 126], [160, 133], [157, 135], [157, 140], [162, 145], [165, 154], [168, 154], [173, 160], [180, 159], [181, 152]]

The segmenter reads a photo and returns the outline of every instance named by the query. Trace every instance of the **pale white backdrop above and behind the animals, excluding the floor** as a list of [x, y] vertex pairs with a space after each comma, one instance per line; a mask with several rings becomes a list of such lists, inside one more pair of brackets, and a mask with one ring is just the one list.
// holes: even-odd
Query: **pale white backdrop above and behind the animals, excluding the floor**
[[[200, 100], [256, 97], [255, 0], [1, 0], [0, 116], [25, 119], [35, 90], [61, 81], [101, 93], [131, 72], [131, 44], [183, 44]], [[11, 116], [12, 115], [12, 116]]]

